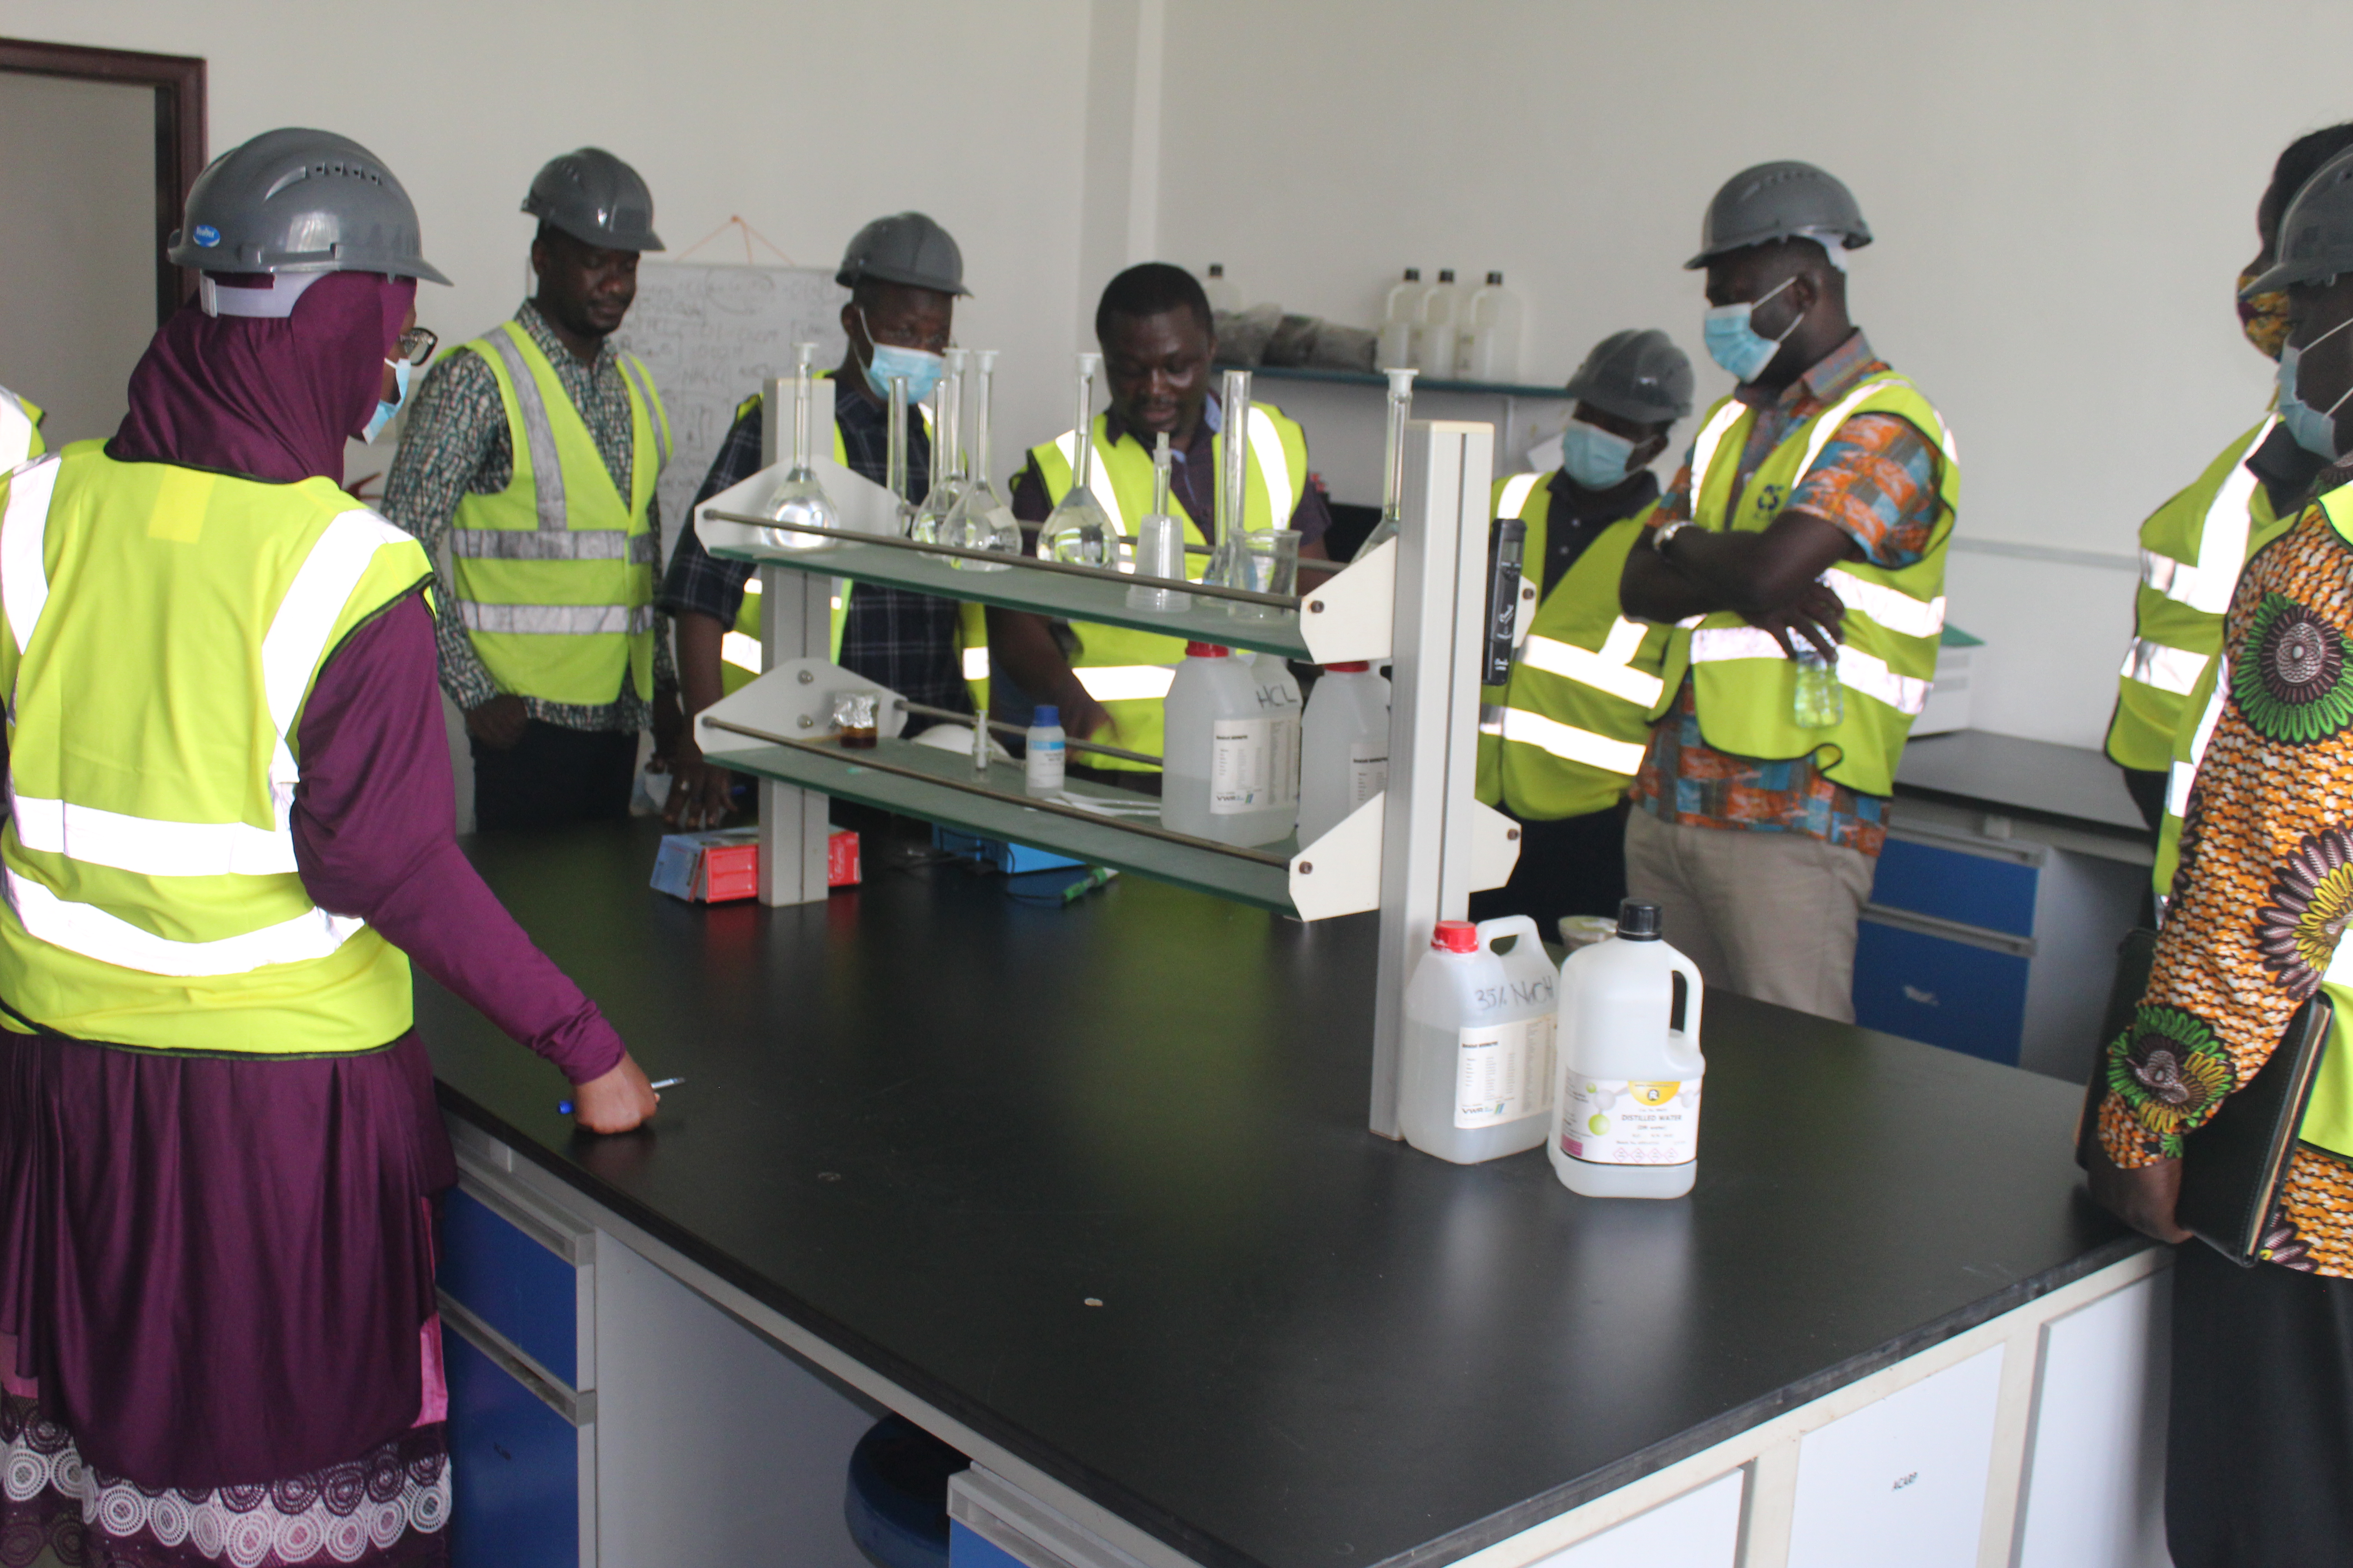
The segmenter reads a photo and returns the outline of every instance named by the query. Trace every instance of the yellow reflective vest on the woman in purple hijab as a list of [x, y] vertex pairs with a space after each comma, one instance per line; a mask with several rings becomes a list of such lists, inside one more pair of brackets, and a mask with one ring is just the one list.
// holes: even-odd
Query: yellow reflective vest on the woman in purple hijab
[[158, 1051], [372, 1051], [409, 964], [294, 867], [301, 712], [424, 545], [327, 480], [115, 463], [0, 480], [0, 1004]]

